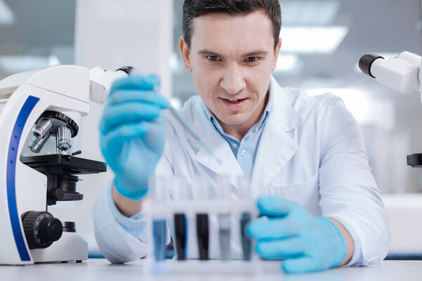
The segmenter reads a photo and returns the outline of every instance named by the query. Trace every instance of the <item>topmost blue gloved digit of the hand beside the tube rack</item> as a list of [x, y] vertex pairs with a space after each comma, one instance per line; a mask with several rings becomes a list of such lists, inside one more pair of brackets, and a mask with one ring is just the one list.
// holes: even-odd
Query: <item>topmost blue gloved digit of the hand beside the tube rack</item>
[[298, 204], [279, 196], [261, 196], [257, 206], [261, 216], [286, 216]]

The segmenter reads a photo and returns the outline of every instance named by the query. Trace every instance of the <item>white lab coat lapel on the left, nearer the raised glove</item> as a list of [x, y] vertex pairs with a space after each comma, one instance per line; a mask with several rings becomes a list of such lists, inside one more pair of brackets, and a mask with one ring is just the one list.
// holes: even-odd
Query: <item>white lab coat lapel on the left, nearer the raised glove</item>
[[200, 147], [196, 154], [196, 161], [203, 164], [208, 169], [214, 171], [216, 174], [222, 176], [230, 176], [231, 184], [236, 187], [236, 182], [233, 176], [243, 175], [241, 166], [238, 164], [236, 157], [229, 146], [229, 143], [219, 134], [214, 125], [207, 118], [201, 103], [196, 103], [194, 116], [196, 119], [193, 121], [193, 126], [199, 133], [202, 141], [215, 153], [215, 155], [222, 161], [221, 164], [207, 152], [198, 141], [188, 134], [188, 139], [191, 143], [195, 143]]

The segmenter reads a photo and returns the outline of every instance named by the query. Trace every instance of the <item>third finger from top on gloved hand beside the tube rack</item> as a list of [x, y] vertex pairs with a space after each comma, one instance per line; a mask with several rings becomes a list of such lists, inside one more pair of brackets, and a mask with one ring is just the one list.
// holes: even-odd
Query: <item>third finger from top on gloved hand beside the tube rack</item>
[[302, 256], [305, 252], [305, 244], [302, 243], [300, 237], [282, 240], [259, 240], [255, 246], [255, 251], [264, 259], [285, 259]]

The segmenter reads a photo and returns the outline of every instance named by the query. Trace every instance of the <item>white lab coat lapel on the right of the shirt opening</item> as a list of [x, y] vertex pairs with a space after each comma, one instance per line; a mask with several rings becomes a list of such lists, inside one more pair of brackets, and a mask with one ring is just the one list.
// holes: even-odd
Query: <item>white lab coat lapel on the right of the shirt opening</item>
[[260, 193], [295, 155], [298, 143], [288, 135], [295, 129], [302, 117], [292, 107], [288, 94], [271, 77], [273, 107], [262, 131], [252, 171], [251, 188]]

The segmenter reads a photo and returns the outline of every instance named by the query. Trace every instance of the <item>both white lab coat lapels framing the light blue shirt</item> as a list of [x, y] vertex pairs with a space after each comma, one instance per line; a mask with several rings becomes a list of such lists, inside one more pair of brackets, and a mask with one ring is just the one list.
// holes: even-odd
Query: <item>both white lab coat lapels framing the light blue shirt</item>
[[[293, 157], [298, 144], [288, 136], [287, 132], [295, 129], [302, 121], [302, 117], [292, 107], [288, 94], [281, 89], [274, 77], [271, 77], [269, 94], [274, 98], [271, 112], [262, 131], [260, 144], [252, 171], [252, 188], [267, 186], [269, 181]], [[229, 143], [215, 129], [210, 119], [205, 114], [201, 100], [198, 98], [193, 115], [192, 125], [200, 134], [202, 141], [212, 149], [215, 155], [222, 159], [219, 164], [204, 148], [196, 154], [196, 161], [219, 175], [228, 175], [231, 184], [236, 187], [235, 176], [243, 176], [241, 166], [238, 164]], [[187, 135], [192, 143], [198, 143], [193, 136]]]

